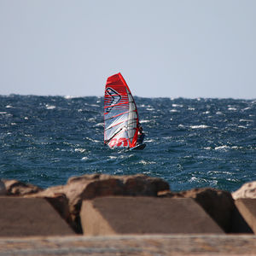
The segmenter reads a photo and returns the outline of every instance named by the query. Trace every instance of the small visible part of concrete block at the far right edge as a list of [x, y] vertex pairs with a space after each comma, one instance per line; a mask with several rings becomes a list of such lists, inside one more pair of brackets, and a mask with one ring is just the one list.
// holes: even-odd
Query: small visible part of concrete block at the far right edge
[[256, 199], [240, 198], [235, 201], [235, 204], [242, 218], [256, 234]]

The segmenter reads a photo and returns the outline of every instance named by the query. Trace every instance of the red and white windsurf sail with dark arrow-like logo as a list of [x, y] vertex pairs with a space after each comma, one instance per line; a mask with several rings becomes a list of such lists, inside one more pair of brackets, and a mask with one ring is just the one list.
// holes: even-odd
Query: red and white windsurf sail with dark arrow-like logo
[[131, 90], [121, 73], [107, 79], [104, 98], [104, 143], [110, 148], [137, 144], [138, 114]]

